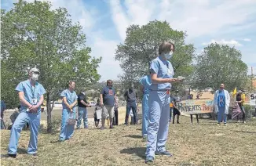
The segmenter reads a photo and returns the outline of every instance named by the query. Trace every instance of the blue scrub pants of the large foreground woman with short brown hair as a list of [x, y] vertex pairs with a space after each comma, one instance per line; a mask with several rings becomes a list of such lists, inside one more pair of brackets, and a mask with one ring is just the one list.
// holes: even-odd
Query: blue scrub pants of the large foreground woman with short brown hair
[[170, 95], [152, 91], [148, 98], [148, 140], [146, 157], [165, 152], [170, 118]]

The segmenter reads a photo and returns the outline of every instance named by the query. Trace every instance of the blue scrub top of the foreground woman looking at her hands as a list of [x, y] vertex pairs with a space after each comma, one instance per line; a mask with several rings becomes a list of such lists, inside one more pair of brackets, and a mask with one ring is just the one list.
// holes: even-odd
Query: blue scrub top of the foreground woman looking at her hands
[[[158, 56], [150, 65], [151, 73], [157, 74], [157, 78], [173, 78], [174, 68], [168, 60], [163, 60], [161, 56]], [[149, 87], [153, 91], [159, 91], [164, 89], [170, 89], [170, 83], [154, 84]]]

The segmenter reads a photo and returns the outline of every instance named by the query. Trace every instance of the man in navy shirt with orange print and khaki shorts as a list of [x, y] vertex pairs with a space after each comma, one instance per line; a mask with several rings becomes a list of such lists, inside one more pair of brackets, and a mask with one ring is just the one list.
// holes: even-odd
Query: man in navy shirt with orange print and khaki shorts
[[109, 116], [109, 128], [113, 127], [113, 117], [114, 117], [114, 106], [116, 102], [115, 88], [112, 87], [112, 81], [107, 81], [107, 86], [101, 90], [101, 106], [102, 106], [102, 115], [101, 115], [101, 130], [104, 129], [104, 124], [106, 118]]

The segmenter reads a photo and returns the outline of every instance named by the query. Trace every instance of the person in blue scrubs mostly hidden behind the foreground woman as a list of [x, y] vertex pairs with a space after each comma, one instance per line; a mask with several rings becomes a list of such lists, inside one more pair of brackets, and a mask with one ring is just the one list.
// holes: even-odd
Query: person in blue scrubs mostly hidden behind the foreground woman
[[146, 75], [141, 78], [141, 91], [143, 92], [142, 98], [142, 137], [147, 139], [148, 135], [148, 97], [149, 97], [149, 87], [151, 83], [151, 76]]

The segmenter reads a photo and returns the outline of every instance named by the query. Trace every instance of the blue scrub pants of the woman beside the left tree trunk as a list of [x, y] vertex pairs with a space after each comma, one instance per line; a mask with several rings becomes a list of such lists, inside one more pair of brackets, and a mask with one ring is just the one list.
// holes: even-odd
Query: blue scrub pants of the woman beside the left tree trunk
[[[68, 109], [62, 110], [62, 120], [61, 120], [61, 128], [60, 128], [60, 141], [64, 141], [70, 139], [72, 135], [74, 135], [75, 125], [68, 124], [68, 117], [70, 116], [71, 111]], [[72, 117], [75, 118], [75, 109], [71, 114]]]

